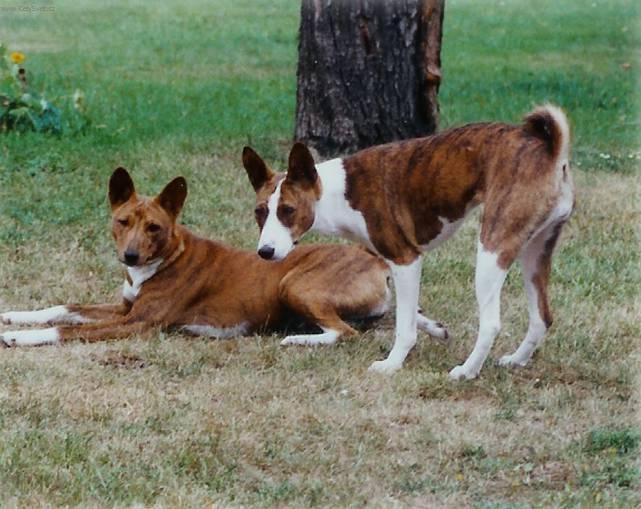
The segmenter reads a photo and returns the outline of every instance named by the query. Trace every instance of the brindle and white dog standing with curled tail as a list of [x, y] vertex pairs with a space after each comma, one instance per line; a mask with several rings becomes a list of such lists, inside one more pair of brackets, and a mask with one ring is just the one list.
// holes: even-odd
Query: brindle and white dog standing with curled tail
[[304, 233], [315, 230], [357, 240], [383, 257], [396, 289], [395, 340], [388, 357], [370, 369], [393, 373], [416, 343], [423, 253], [449, 239], [482, 204], [478, 337], [450, 377], [478, 376], [500, 330], [501, 287], [516, 259], [523, 266], [529, 328], [519, 348], [499, 363], [524, 366], [552, 324], [552, 251], [574, 208], [569, 151], [567, 118], [553, 105], [536, 108], [520, 125], [469, 124], [318, 166], [307, 147], [296, 143], [286, 174], [274, 174], [245, 147], [261, 231], [258, 254], [282, 260]]

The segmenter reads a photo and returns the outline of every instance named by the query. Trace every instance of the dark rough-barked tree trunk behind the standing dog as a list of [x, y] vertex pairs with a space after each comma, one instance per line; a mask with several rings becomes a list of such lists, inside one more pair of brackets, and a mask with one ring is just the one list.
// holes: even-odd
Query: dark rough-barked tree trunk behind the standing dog
[[295, 138], [323, 156], [433, 133], [444, 0], [302, 0]]

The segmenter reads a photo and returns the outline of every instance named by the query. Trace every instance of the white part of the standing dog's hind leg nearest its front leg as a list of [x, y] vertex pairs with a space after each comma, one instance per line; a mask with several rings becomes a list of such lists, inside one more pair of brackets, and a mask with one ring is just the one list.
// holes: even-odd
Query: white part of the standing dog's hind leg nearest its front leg
[[486, 251], [479, 240], [476, 255], [476, 299], [479, 306], [479, 333], [474, 350], [465, 363], [450, 371], [452, 380], [476, 378], [501, 329], [501, 288], [507, 270], [498, 264], [498, 255]]

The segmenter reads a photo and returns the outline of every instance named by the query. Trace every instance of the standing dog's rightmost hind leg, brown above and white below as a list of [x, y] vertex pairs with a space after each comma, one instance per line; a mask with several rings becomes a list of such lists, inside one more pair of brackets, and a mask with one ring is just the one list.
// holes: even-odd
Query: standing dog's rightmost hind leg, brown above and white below
[[559, 226], [548, 227], [530, 242], [521, 255], [530, 323], [518, 349], [511, 355], [501, 357], [501, 366], [525, 366], [552, 325], [547, 286], [552, 267], [552, 250], [560, 231]]

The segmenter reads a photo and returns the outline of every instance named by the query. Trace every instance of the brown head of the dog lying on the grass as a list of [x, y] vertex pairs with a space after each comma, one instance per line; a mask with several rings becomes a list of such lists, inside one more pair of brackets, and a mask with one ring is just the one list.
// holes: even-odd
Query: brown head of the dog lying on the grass
[[138, 196], [124, 168], [109, 179], [111, 231], [118, 260], [128, 267], [140, 267], [166, 259], [178, 244], [176, 218], [187, 197], [183, 177], [172, 180], [155, 198]]

